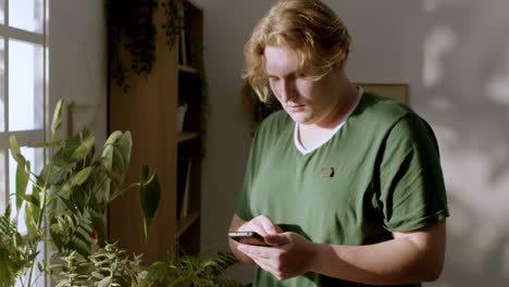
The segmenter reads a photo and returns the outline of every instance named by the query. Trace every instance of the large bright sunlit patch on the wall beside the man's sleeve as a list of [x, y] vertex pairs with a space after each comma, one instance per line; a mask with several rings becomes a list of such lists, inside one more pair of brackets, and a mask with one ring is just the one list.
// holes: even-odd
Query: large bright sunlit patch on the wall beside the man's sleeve
[[[448, 225], [454, 245], [449, 245], [449, 259], [470, 272], [482, 273], [494, 250], [508, 250], [509, 176], [493, 178], [497, 162], [506, 159], [509, 150], [502, 144], [484, 151], [458, 149], [460, 135], [446, 126], [434, 126], [439, 135], [444, 176], [449, 191], [451, 213]], [[507, 171], [506, 174], [509, 174]], [[468, 252], [465, 252], [468, 250]], [[500, 254], [502, 255], [502, 254]], [[506, 265], [509, 265], [506, 252]]]

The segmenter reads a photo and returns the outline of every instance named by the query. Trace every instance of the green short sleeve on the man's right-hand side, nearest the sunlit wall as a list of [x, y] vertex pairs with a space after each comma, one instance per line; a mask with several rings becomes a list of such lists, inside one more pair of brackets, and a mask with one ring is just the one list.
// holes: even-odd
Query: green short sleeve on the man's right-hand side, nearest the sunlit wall
[[402, 116], [381, 151], [378, 204], [388, 230], [414, 230], [449, 216], [438, 145], [424, 120]]

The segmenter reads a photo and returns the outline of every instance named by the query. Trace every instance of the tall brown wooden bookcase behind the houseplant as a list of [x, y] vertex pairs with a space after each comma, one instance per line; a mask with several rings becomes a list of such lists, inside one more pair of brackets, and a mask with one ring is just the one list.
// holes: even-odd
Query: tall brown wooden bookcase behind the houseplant
[[[165, 2], [160, 1], [160, 4]], [[109, 240], [144, 262], [164, 260], [169, 252], [188, 254], [200, 248], [201, 159], [203, 154], [202, 10], [184, 3], [184, 29], [169, 49], [164, 29], [157, 25], [156, 63], [148, 77], [131, 77], [125, 92], [111, 82], [109, 130], [131, 130], [133, 152], [126, 183], [139, 180], [142, 165], [161, 182], [161, 201], [148, 241], [145, 240], [138, 192], [133, 189], [109, 210]], [[157, 10], [163, 23], [164, 9]], [[177, 104], [187, 103], [183, 130], [177, 129]]]

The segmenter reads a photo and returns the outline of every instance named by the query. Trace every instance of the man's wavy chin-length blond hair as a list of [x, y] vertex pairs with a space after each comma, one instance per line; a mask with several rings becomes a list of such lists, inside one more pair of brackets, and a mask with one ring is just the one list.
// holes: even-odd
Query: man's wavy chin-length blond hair
[[348, 57], [350, 40], [343, 21], [320, 0], [280, 0], [258, 22], [244, 48], [243, 77], [268, 102], [266, 46], [296, 51], [298, 75], [320, 78]]

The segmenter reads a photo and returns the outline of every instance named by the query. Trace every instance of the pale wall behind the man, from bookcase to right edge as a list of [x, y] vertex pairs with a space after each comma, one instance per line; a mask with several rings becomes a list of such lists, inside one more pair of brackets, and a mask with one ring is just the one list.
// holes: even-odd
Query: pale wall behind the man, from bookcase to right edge
[[[250, 132], [239, 97], [243, 46], [273, 1], [201, 0], [210, 83], [202, 245], [226, 250]], [[451, 217], [442, 278], [509, 282], [509, 1], [326, 1], [353, 37], [356, 82], [408, 83], [440, 145]], [[246, 273], [238, 273], [247, 278]]]

